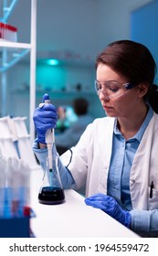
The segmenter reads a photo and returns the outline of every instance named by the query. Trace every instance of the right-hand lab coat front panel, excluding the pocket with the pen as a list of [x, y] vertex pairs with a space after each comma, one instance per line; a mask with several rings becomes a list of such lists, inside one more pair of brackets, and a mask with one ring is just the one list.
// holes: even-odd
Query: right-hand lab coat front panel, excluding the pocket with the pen
[[158, 127], [156, 124], [157, 117], [156, 119], [154, 117], [155, 114], [143, 134], [142, 142], [132, 163], [130, 189], [133, 209], [149, 209], [148, 202], [151, 176], [154, 180], [154, 177], [158, 172], [156, 167], [157, 160], [155, 160], [158, 146], [155, 129], [158, 129]]

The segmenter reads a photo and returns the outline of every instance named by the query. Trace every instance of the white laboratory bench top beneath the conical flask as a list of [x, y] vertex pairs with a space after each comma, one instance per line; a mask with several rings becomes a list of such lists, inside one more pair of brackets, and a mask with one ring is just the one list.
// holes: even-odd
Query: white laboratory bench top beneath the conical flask
[[43, 172], [31, 172], [31, 208], [36, 217], [31, 229], [37, 238], [136, 238], [132, 230], [97, 208], [86, 206], [84, 197], [72, 189], [65, 190], [66, 202], [60, 205], [38, 203]]

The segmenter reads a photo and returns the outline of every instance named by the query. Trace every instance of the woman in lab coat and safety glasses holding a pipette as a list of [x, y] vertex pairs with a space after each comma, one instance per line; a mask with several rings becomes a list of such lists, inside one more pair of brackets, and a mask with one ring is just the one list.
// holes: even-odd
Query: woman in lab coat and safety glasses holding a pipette
[[[158, 91], [148, 48], [120, 40], [96, 60], [95, 89], [107, 117], [90, 123], [58, 159], [63, 187], [86, 186], [85, 203], [144, 237], [158, 237]], [[57, 123], [51, 104], [37, 108], [33, 149], [45, 165], [45, 133]], [[65, 167], [66, 166], [66, 167]]]

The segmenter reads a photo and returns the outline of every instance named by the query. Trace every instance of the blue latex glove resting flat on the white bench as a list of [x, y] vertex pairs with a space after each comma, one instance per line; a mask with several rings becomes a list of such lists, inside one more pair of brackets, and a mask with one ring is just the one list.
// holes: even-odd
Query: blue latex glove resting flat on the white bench
[[123, 210], [114, 198], [99, 193], [86, 198], [85, 203], [93, 208], [100, 208], [113, 219], [118, 220], [121, 224], [130, 228], [132, 220], [131, 213], [127, 210]]

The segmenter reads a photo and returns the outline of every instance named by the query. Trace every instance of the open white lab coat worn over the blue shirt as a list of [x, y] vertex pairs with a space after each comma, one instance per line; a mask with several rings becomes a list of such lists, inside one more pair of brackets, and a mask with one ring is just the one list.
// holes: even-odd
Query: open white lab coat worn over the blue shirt
[[[86, 196], [107, 193], [107, 177], [111, 161], [114, 118], [96, 119], [82, 134], [79, 144], [61, 156], [74, 177], [77, 187], [86, 183]], [[133, 209], [158, 208], [158, 114], [143, 134], [132, 163], [130, 190]], [[71, 159], [70, 159], [71, 156]], [[153, 197], [149, 197], [153, 181]]]

